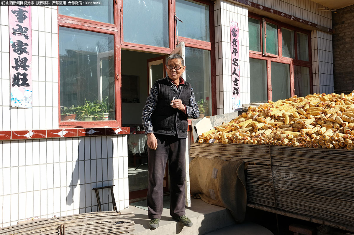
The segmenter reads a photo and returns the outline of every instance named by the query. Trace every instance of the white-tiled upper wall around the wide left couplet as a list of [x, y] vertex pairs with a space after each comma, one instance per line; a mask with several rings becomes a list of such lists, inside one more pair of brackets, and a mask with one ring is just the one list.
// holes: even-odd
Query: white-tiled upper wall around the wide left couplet
[[10, 107], [8, 7], [0, 7], [0, 130], [58, 128], [57, 8], [32, 6], [33, 108]]

